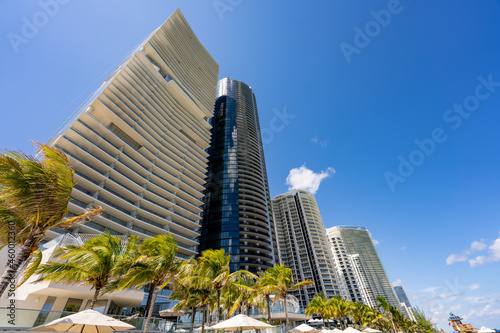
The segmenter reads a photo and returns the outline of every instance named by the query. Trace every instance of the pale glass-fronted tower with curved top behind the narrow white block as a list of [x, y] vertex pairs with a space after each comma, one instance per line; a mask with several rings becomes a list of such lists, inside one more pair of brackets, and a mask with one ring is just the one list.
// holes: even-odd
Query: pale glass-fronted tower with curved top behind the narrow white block
[[[399, 301], [375, 249], [370, 232], [366, 228], [358, 226], [336, 226], [327, 229], [327, 232], [330, 240], [340, 238], [343, 249], [345, 249], [347, 255], [350, 255], [350, 269], [353, 271], [354, 280], [357, 282], [357, 289], [353, 290], [353, 294], [356, 297], [361, 295], [362, 298], [363, 294], [365, 294], [366, 300], [363, 300], [363, 302], [369, 306], [373, 306], [375, 297], [383, 296], [389, 304], [400, 308]], [[352, 281], [349, 270], [346, 270], [346, 272], [349, 281]], [[343, 276], [345, 277], [345, 275]]]

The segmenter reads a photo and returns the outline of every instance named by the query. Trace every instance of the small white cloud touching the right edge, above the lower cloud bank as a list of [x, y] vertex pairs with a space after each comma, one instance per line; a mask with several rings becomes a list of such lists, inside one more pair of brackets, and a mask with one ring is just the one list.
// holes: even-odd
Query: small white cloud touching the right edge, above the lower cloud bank
[[[481, 254], [475, 258], [470, 258], [474, 252], [481, 252], [488, 249], [487, 254]], [[469, 249], [462, 251], [461, 253], [452, 253], [446, 258], [446, 265], [452, 265], [456, 262], [468, 261], [470, 267], [477, 267], [484, 265], [487, 262], [497, 262], [500, 261], [500, 237], [493, 241], [493, 244], [488, 246], [484, 241], [474, 241], [471, 243]]]

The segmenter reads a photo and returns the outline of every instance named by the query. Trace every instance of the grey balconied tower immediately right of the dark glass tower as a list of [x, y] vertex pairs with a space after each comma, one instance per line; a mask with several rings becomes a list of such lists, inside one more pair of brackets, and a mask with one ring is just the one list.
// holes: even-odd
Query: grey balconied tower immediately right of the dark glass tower
[[339, 296], [330, 244], [318, 204], [304, 190], [281, 194], [272, 201], [281, 263], [292, 269], [296, 282], [311, 280], [314, 285], [294, 291], [300, 306], [306, 307], [316, 293], [327, 298]]

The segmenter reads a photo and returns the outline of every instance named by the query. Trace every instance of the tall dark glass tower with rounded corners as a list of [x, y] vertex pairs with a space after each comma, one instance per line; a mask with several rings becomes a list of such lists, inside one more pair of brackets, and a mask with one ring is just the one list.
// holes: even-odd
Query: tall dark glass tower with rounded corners
[[200, 253], [224, 249], [231, 271], [266, 270], [278, 258], [252, 89], [231, 78], [220, 80], [211, 123]]

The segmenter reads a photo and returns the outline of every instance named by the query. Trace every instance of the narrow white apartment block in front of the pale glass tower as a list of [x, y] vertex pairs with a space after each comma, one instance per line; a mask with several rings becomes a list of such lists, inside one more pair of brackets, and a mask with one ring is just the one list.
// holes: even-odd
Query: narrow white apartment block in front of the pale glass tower
[[351, 302], [361, 302], [370, 307], [376, 306], [375, 295], [368, 280], [359, 254], [348, 254], [339, 232], [328, 229], [335, 269], [343, 297]]

